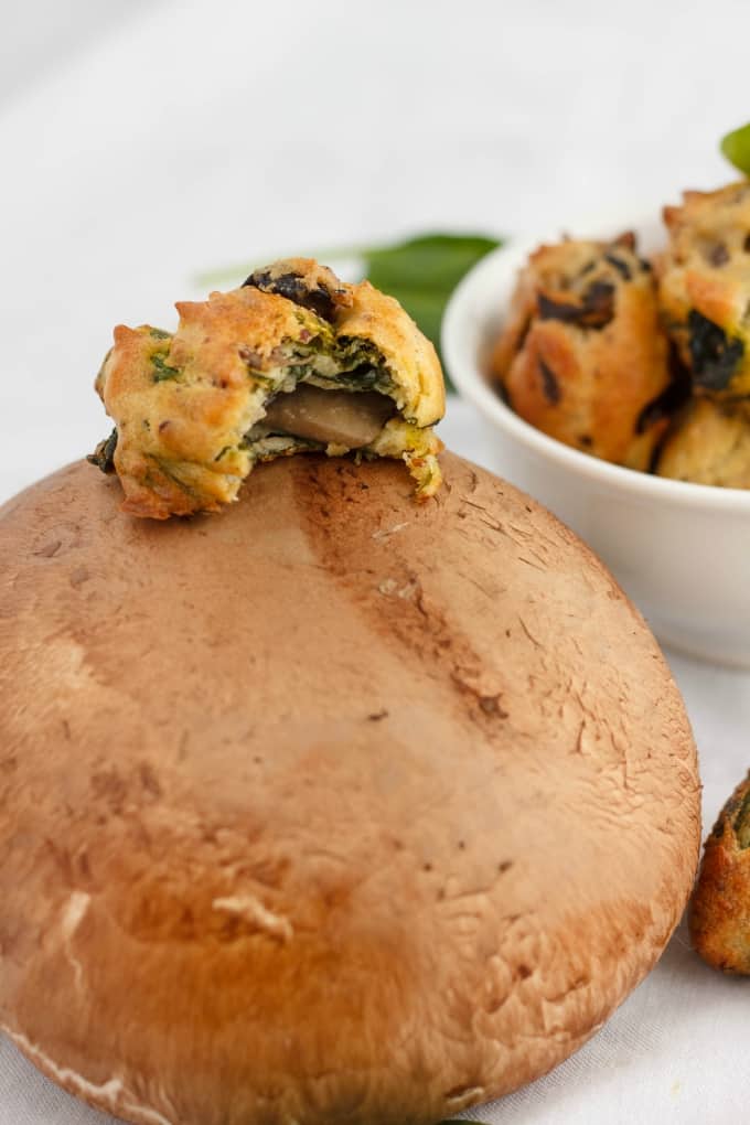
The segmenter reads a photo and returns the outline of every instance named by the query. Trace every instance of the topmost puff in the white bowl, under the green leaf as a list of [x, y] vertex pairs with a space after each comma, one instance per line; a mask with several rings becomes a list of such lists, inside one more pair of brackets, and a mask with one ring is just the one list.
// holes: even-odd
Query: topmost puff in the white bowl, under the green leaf
[[656, 262], [663, 323], [696, 392], [750, 394], [750, 183], [686, 191], [665, 207], [669, 246]]

